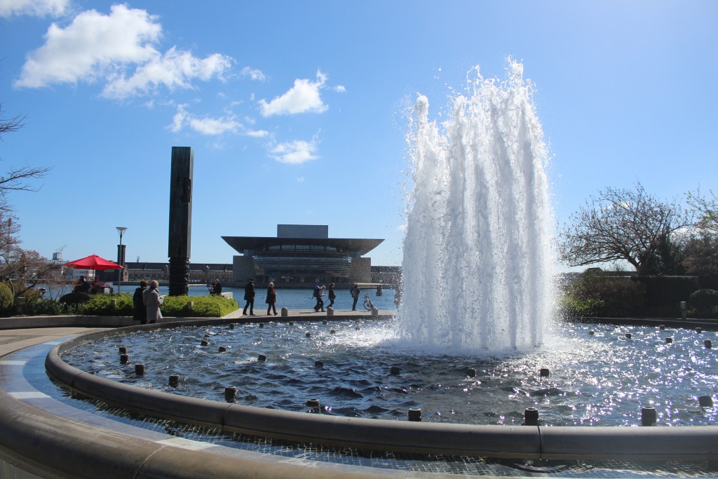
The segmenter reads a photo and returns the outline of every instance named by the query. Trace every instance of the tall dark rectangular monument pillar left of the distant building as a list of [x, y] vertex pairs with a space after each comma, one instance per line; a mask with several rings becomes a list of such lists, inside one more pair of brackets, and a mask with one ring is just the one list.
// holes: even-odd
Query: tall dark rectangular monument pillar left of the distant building
[[195, 154], [190, 147], [172, 147], [169, 184], [169, 295], [190, 292], [190, 241], [192, 238], [192, 169]]

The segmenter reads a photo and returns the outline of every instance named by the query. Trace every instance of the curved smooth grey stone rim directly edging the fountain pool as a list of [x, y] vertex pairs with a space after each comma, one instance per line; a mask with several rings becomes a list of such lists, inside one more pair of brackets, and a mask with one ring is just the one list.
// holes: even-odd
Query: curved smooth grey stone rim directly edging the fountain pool
[[62, 351], [80, 342], [107, 335], [226, 322], [185, 321], [93, 332], [57, 345], [47, 355], [45, 366], [57, 381], [87, 396], [144, 414], [222, 428], [226, 432], [423, 454], [564, 460], [718, 460], [717, 427], [475, 426], [277, 411], [129, 386], [80, 371], [60, 358]]

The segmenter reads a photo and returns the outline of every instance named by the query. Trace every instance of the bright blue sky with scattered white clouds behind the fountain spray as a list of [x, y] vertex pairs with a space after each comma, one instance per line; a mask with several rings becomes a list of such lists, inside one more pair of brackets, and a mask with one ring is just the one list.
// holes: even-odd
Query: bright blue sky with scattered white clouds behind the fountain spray
[[0, 171], [23, 246], [167, 261], [169, 164], [192, 147], [193, 262], [221, 236], [327, 224], [402, 261], [407, 108], [442, 118], [480, 65], [523, 62], [551, 152], [556, 219], [637, 180], [718, 191], [716, 1], [0, 0]]

